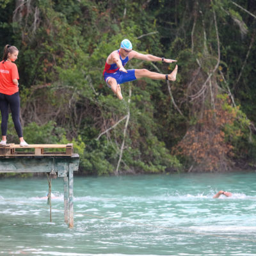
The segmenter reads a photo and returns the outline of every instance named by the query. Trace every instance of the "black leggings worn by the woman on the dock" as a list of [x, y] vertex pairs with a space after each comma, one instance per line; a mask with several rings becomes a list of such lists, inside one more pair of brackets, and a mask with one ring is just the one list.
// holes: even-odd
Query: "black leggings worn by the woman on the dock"
[[8, 124], [8, 106], [10, 105], [10, 109], [12, 112], [12, 120], [15, 127], [15, 130], [20, 137], [22, 135], [22, 128], [20, 125], [20, 96], [19, 92], [14, 93], [13, 95], [6, 95], [0, 93], [0, 109], [2, 115], [2, 123], [1, 123], [1, 131], [2, 136], [6, 136], [7, 133], [7, 124]]

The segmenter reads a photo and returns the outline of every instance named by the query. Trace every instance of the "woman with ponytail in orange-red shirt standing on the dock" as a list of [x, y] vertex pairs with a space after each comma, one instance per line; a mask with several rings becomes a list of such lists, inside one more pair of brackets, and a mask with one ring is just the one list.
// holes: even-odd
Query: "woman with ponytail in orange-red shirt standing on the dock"
[[3, 61], [0, 63], [0, 109], [2, 115], [0, 145], [6, 145], [6, 133], [8, 124], [8, 106], [12, 112], [12, 120], [20, 139], [21, 147], [28, 147], [24, 141], [20, 125], [20, 97], [19, 97], [19, 72], [13, 63], [17, 60], [19, 50], [13, 45], [5, 45]]

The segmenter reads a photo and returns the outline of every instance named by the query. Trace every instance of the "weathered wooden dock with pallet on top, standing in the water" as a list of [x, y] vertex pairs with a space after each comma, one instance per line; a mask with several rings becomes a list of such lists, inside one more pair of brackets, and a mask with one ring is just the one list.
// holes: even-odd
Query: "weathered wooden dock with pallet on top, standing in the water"
[[[46, 151], [52, 148], [62, 151]], [[0, 147], [0, 173], [45, 172], [63, 177], [64, 220], [70, 228], [74, 226], [73, 175], [78, 167], [79, 155], [73, 154], [72, 144], [35, 144], [29, 147], [8, 144]]]

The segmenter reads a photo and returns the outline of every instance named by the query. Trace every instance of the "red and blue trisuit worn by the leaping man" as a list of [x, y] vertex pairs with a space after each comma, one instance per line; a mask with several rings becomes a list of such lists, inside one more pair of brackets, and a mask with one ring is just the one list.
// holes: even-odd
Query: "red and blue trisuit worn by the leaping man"
[[[127, 56], [124, 60], [122, 59], [120, 52], [118, 50], [118, 54], [120, 57], [120, 60], [122, 61], [123, 67], [126, 65], [126, 63], [129, 61], [129, 57]], [[123, 84], [125, 82], [134, 81], [137, 78], [135, 77], [135, 70], [129, 69], [127, 70], [127, 73], [119, 71], [119, 68], [117, 67], [116, 63], [109, 65], [106, 61], [105, 68], [103, 71], [103, 77], [106, 83], [108, 84], [108, 79], [113, 77], [116, 79], [116, 82], [118, 84]], [[109, 84], [108, 84], [109, 86]], [[110, 86], [109, 86], [110, 87]]]

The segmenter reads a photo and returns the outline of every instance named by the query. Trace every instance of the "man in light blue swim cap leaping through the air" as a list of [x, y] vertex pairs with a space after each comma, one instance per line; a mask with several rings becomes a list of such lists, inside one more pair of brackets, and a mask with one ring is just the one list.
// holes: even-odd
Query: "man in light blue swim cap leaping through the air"
[[116, 94], [118, 99], [123, 99], [120, 84], [125, 82], [140, 79], [142, 77], [148, 77], [154, 80], [176, 80], [178, 65], [176, 65], [173, 72], [168, 75], [159, 74], [157, 72], [151, 72], [145, 68], [126, 70], [124, 66], [132, 58], [147, 61], [163, 61], [166, 63], [172, 63], [174, 61], [177, 61], [166, 58], [160, 58], [151, 54], [141, 54], [139, 52], [132, 51], [131, 42], [128, 39], [124, 39], [121, 42], [120, 49], [113, 51], [111, 52], [111, 54], [109, 54], [103, 71], [103, 76], [106, 83], [111, 88], [111, 90]]

